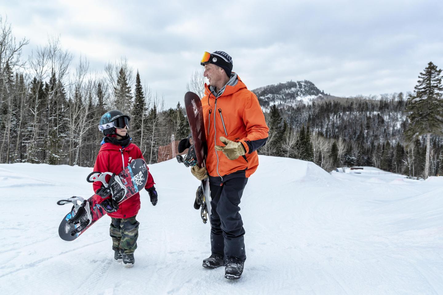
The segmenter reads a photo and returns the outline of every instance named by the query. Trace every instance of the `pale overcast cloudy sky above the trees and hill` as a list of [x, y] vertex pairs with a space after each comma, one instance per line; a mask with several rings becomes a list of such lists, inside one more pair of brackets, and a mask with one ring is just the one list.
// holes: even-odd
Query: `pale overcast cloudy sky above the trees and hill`
[[30, 39], [25, 56], [48, 35], [99, 72], [125, 56], [173, 107], [216, 50], [249, 89], [306, 79], [336, 96], [413, 91], [429, 61], [443, 68], [442, 3], [2, 0], [0, 14]]

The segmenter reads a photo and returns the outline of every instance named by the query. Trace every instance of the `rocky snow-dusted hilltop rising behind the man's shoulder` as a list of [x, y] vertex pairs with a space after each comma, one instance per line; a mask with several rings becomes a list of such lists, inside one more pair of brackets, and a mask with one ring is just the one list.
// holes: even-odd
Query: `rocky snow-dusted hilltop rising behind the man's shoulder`
[[261, 107], [267, 109], [272, 104], [277, 107], [295, 105], [297, 102], [310, 103], [318, 97], [326, 96], [323, 91], [320, 91], [314, 83], [308, 80], [304, 81], [288, 81], [286, 83], [279, 83], [268, 85], [252, 90]]

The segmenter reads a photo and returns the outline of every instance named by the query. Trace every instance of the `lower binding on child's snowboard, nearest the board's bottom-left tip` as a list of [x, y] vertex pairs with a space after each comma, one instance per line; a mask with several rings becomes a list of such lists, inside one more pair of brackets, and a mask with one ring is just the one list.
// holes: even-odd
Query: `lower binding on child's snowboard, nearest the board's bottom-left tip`
[[91, 211], [89, 208], [89, 202], [82, 197], [70, 197], [66, 200], [60, 200], [57, 205], [65, 205], [72, 203], [71, 213], [66, 216], [65, 233], [74, 236], [80, 233], [84, 228], [91, 223]]

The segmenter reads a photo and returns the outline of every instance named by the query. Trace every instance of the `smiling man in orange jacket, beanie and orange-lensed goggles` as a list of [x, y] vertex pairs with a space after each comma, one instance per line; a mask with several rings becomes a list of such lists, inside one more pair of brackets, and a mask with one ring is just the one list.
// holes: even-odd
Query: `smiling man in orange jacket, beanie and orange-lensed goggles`
[[211, 256], [203, 267], [225, 266], [225, 278], [239, 279], [246, 260], [241, 195], [258, 166], [256, 149], [268, 139], [269, 128], [257, 97], [236, 73], [232, 58], [223, 51], [205, 52], [203, 117], [208, 142], [206, 169], [195, 165], [199, 180], [209, 174], [211, 191]]

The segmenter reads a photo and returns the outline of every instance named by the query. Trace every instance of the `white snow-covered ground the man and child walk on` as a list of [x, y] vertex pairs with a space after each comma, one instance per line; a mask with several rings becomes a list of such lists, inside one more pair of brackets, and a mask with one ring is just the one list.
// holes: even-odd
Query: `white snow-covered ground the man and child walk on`
[[329, 174], [260, 156], [241, 202], [245, 271], [230, 281], [202, 268], [210, 226], [192, 206], [198, 181], [175, 160], [150, 170], [159, 203], [141, 193], [136, 264], [124, 268], [107, 216], [75, 241], [58, 237], [70, 208], [56, 202], [89, 197], [92, 169], [0, 165], [0, 294], [443, 294], [443, 177]]

